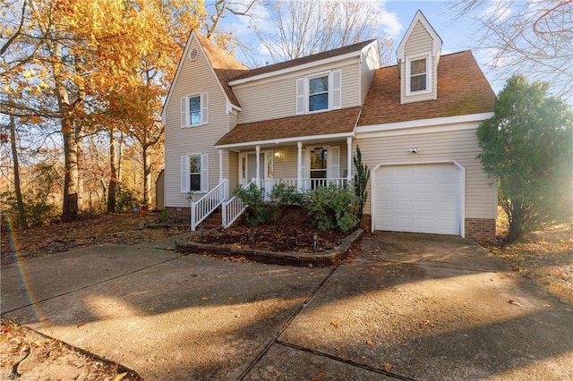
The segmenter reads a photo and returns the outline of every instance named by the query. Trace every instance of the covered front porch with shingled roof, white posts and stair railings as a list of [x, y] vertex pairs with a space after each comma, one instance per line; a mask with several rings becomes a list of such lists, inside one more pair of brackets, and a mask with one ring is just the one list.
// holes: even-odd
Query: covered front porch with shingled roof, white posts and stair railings
[[351, 182], [352, 144], [360, 110], [353, 107], [237, 124], [215, 145], [218, 186], [192, 203], [192, 230], [219, 205], [223, 226], [232, 224], [246, 207], [230, 197], [229, 190], [239, 186], [254, 183], [269, 195], [278, 183], [304, 191]]

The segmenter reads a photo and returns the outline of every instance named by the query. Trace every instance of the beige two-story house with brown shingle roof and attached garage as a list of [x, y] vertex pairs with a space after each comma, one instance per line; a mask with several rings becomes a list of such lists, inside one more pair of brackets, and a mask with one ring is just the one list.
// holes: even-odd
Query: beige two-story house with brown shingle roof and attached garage
[[222, 204], [228, 222], [229, 189], [248, 182], [346, 184], [359, 147], [372, 230], [491, 241], [497, 191], [475, 131], [495, 95], [471, 52], [441, 44], [418, 11], [397, 65], [381, 68], [370, 40], [249, 70], [192, 31], [163, 110], [170, 214], [194, 228]]

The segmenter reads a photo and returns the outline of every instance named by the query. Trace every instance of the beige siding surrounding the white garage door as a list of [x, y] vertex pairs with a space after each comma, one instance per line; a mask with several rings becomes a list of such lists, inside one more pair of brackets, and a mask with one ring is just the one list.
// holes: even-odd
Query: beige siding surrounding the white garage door
[[[358, 138], [356, 144], [371, 170], [378, 164], [458, 161], [466, 168], [466, 218], [496, 217], [497, 190], [476, 158], [481, 150], [475, 130]], [[412, 154], [409, 150], [413, 147], [419, 152]], [[364, 213], [371, 213], [370, 196]]]

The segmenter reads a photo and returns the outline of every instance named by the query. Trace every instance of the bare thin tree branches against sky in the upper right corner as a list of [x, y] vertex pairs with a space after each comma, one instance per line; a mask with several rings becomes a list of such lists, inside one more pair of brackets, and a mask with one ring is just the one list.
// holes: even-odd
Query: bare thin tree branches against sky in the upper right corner
[[458, 0], [452, 10], [477, 19], [477, 48], [500, 76], [547, 81], [552, 94], [573, 104], [573, 2]]

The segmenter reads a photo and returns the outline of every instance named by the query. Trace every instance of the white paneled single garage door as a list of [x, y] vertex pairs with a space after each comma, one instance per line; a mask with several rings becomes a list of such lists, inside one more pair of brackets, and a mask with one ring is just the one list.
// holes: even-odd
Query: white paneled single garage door
[[381, 165], [374, 229], [459, 235], [460, 175], [453, 164]]

